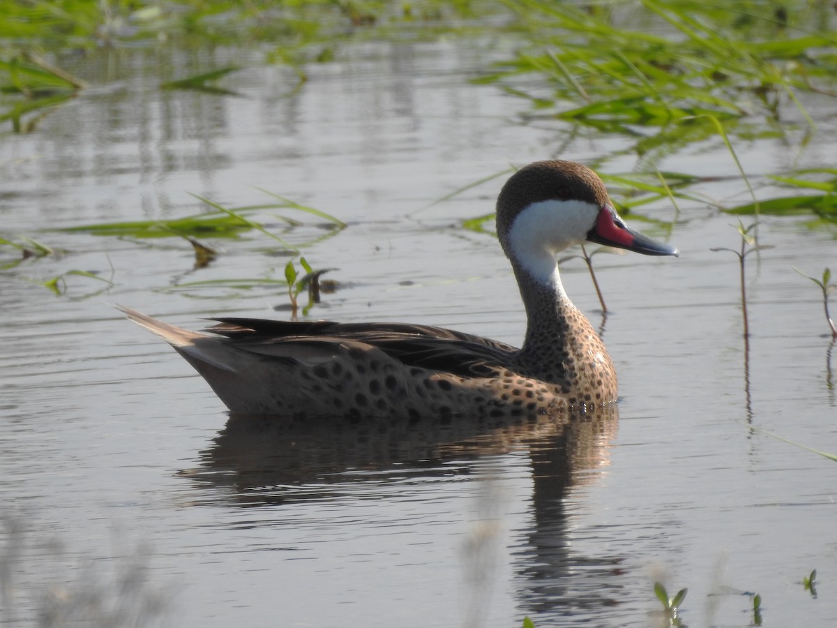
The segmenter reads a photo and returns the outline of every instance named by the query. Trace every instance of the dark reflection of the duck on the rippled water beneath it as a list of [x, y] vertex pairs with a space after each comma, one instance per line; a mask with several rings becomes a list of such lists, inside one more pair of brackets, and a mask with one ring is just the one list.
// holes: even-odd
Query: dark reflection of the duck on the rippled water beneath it
[[565, 507], [568, 495], [595, 481], [596, 471], [608, 465], [617, 423], [616, 404], [517, 420], [336, 423], [233, 414], [213, 446], [202, 452], [199, 466], [183, 473], [201, 492], [208, 492], [200, 503], [297, 507], [300, 502], [345, 499], [347, 493], [364, 500], [401, 498], [399, 481], [405, 473], [430, 481], [452, 474], [479, 477], [482, 472], [502, 473], [499, 466], [480, 464], [492, 457], [526, 455], [531, 464], [531, 517], [510, 548], [513, 586], [521, 614], [543, 620], [601, 612], [618, 604], [618, 585], [608, 585], [617, 561], [573, 550], [572, 516]]

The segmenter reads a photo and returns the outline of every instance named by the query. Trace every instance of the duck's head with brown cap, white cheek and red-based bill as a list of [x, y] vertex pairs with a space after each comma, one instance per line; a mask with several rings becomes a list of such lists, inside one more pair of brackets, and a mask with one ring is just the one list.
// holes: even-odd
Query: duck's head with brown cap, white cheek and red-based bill
[[576, 162], [535, 162], [515, 172], [497, 198], [497, 234], [513, 263], [551, 274], [555, 256], [584, 241], [644, 255], [678, 255], [630, 229], [598, 175]]

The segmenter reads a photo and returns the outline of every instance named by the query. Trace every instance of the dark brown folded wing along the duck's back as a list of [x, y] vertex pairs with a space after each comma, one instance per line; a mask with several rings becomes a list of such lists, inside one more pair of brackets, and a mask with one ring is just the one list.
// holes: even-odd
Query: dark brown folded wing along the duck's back
[[285, 322], [215, 318], [209, 327], [244, 351], [275, 358], [311, 360], [336, 357], [352, 347], [375, 348], [407, 367], [427, 368], [463, 378], [496, 377], [506, 371], [516, 347], [444, 327], [404, 323]]

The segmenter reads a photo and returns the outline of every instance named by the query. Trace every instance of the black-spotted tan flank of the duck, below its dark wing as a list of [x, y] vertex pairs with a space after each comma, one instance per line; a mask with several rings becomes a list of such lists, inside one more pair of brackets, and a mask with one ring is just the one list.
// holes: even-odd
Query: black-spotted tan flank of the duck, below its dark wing
[[[258, 326], [254, 327], [258, 330]], [[346, 337], [342, 333], [340, 338], [323, 339], [341, 343]], [[230, 348], [236, 347], [234, 340], [228, 342]], [[244, 345], [239, 347], [235, 350], [247, 350]], [[379, 414], [410, 420], [432, 414], [446, 420], [461, 414], [508, 417], [562, 412], [571, 403], [585, 403], [583, 395], [570, 402], [567, 391], [572, 389], [572, 382], [565, 376], [568, 371], [563, 365], [552, 369], [560, 375], [554, 381], [539, 380], [533, 377], [535, 371], [529, 370], [521, 351], [499, 348], [499, 343], [496, 347], [490, 351], [494, 358], [491, 364], [484, 360], [481, 365], [470, 367], [482, 371], [477, 375], [466, 374], [458, 367], [442, 371], [408, 366], [365, 343], [344, 345], [335, 358], [313, 367], [270, 362], [269, 368], [253, 368], [247, 376], [246, 394], [241, 392], [243, 384], [238, 373], [220, 371], [182, 349], [178, 351], [193, 363], [229, 409], [242, 414], [283, 414], [295, 418], [335, 414], [349, 419]], [[499, 365], [501, 362], [505, 364]], [[263, 367], [267, 365], [262, 363]], [[452, 372], [454, 368], [458, 373]], [[610, 399], [600, 395], [598, 402], [613, 399], [615, 395]], [[596, 401], [591, 395], [586, 403]]]

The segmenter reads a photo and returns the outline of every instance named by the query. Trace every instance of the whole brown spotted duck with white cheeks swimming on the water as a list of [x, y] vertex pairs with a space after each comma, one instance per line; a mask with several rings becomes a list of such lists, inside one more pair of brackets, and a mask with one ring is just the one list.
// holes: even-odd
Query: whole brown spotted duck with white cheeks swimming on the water
[[567, 414], [614, 404], [614, 363], [561, 283], [557, 255], [585, 241], [679, 255], [631, 229], [601, 178], [549, 160], [514, 172], [496, 231], [526, 311], [521, 347], [443, 327], [222, 317], [192, 332], [126, 306], [162, 337], [233, 414], [392, 420]]

